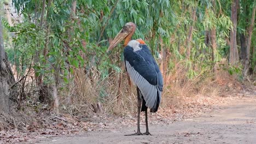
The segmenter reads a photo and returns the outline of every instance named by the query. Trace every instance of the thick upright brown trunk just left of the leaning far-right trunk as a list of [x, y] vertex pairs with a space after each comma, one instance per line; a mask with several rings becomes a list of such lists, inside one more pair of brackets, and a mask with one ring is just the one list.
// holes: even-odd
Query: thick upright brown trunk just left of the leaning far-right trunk
[[236, 43], [237, 8], [239, 0], [233, 0], [231, 4], [231, 21], [233, 28], [230, 31], [229, 63], [234, 65], [238, 61], [238, 50]]

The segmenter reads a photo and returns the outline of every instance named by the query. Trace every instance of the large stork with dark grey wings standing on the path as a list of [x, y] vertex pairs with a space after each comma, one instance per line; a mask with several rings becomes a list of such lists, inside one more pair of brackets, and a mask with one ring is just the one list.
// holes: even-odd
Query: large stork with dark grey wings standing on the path
[[[148, 46], [142, 39], [131, 40], [136, 25], [128, 22], [110, 43], [108, 51], [112, 50], [122, 40], [124, 41], [124, 61], [126, 71], [132, 82], [137, 86], [138, 115], [137, 133], [131, 135], [151, 135], [148, 130], [148, 108], [150, 112], [158, 111], [163, 87], [162, 74]], [[139, 129], [139, 114], [145, 111], [146, 133]]]

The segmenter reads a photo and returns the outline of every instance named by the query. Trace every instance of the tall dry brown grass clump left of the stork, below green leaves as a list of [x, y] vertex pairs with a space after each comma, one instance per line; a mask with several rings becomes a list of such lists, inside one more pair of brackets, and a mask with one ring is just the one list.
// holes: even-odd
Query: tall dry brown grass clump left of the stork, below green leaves
[[[123, 115], [127, 111], [135, 109], [135, 90], [132, 92], [121, 79], [122, 87], [119, 88], [119, 77], [125, 74], [112, 73], [105, 79], [99, 79], [98, 71], [86, 74], [83, 69], [74, 70], [74, 81], [62, 91], [62, 108], [72, 115], [90, 113], [95, 109], [101, 109], [102, 113], [115, 113]], [[64, 93], [63, 93], [64, 92]], [[100, 107], [96, 107], [100, 104]]]

